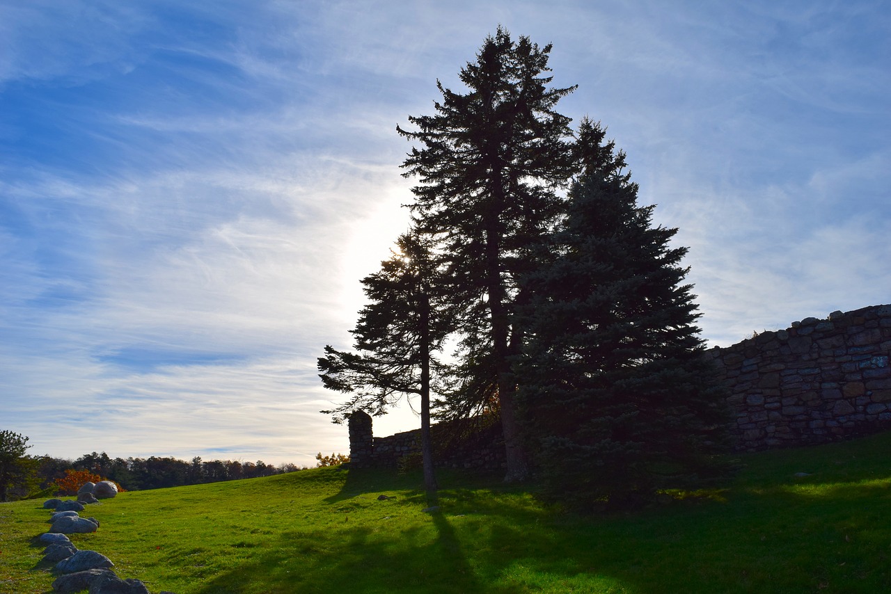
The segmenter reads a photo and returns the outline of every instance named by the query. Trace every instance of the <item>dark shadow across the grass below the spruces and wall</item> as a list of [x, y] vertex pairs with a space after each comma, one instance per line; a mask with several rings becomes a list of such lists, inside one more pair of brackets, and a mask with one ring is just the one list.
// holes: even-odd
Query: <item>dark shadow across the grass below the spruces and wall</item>
[[[845, 478], [867, 477], [858, 475]], [[420, 475], [351, 471], [342, 480], [324, 500], [343, 507], [342, 525], [282, 526], [244, 563], [190, 591], [785, 594], [825, 583], [820, 591], [891, 586], [883, 519], [891, 499], [880, 482], [839, 483], [814, 496], [757, 478], [733, 484], [726, 503], [609, 517], [554, 514], [527, 492], [474, 484], [441, 491], [441, 511], [419, 520], [430, 503]], [[789, 476], [794, 485], [819, 480]], [[379, 502], [377, 493], [396, 499]]]

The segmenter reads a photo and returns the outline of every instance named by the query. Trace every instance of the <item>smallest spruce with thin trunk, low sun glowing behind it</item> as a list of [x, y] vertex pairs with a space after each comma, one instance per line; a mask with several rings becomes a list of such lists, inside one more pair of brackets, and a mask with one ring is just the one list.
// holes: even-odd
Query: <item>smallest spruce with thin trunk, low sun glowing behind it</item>
[[383, 414], [406, 395], [421, 398], [421, 456], [428, 492], [437, 490], [430, 443], [430, 384], [437, 368], [433, 353], [450, 330], [447, 308], [440, 306], [431, 280], [434, 265], [429, 241], [413, 232], [396, 242], [398, 250], [380, 264], [380, 271], [362, 281], [369, 303], [359, 313], [356, 352], [325, 346], [318, 360], [324, 387], [352, 394], [331, 411], [334, 422], [350, 412]]

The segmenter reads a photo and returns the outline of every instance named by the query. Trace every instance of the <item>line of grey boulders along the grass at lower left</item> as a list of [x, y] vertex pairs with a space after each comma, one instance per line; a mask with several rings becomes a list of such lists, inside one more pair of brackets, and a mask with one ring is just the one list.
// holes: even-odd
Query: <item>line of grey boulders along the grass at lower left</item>
[[[94, 495], [95, 487], [82, 491]], [[111, 484], [114, 485], [113, 483]], [[78, 500], [81, 499], [78, 492]], [[114, 494], [103, 498], [114, 497]], [[97, 497], [94, 495], [94, 497]], [[81, 501], [88, 501], [83, 499]], [[87, 590], [89, 594], [149, 594], [148, 588], [140, 580], [123, 580], [112, 571], [114, 563], [109, 557], [94, 550], [78, 550], [67, 534], [94, 533], [99, 528], [99, 520], [94, 517], [80, 517], [84, 503], [76, 500], [46, 500], [45, 509], [53, 509], [50, 517], [50, 530], [37, 540], [46, 545], [44, 561], [55, 564], [53, 570], [61, 575], [53, 581], [53, 590], [62, 594], [73, 594]], [[160, 594], [171, 594], [161, 592]]]

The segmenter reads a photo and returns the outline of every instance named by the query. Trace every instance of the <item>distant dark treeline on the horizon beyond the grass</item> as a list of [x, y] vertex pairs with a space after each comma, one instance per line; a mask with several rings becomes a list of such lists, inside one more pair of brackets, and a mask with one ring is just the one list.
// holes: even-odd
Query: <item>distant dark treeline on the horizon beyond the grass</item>
[[77, 460], [64, 460], [51, 456], [37, 458], [40, 483], [48, 487], [56, 478], [65, 476], [65, 470], [89, 470], [104, 478], [121, 484], [127, 491], [163, 489], [186, 484], [217, 483], [239, 478], [280, 475], [307, 467], [296, 464], [273, 466], [262, 460], [240, 462], [238, 460], [201, 460], [196, 456], [192, 461], [176, 458], [110, 458], [105, 452], [84, 454]]

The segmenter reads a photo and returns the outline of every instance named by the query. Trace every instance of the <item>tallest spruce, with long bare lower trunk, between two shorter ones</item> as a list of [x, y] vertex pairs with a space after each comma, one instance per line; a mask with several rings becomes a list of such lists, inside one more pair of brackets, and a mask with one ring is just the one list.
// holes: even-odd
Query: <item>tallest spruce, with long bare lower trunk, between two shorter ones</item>
[[[454, 305], [464, 310], [459, 330], [473, 353], [463, 353], [463, 384], [486, 388], [476, 397], [494, 398], [500, 409], [507, 480], [527, 476], [511, 372], [523, 339], [518, 280], [560, 214], [557, 190], [572, 169], [569, 118], [554, 107], [575, 87], [549, 86], [550, 52], [551, 45], [540, 48], [527, 37], [514, 42], [498, 28], [461, 70], [466, 93], [437, 81], [436, 115], [409, 118], [414, 132], [397, 126], [421, 145], [403, 165], [404, 175], [421, 182], [409, 207], [419, 229], [437, 240]], [[471, 358], [485, 364], [467, 364]]]

